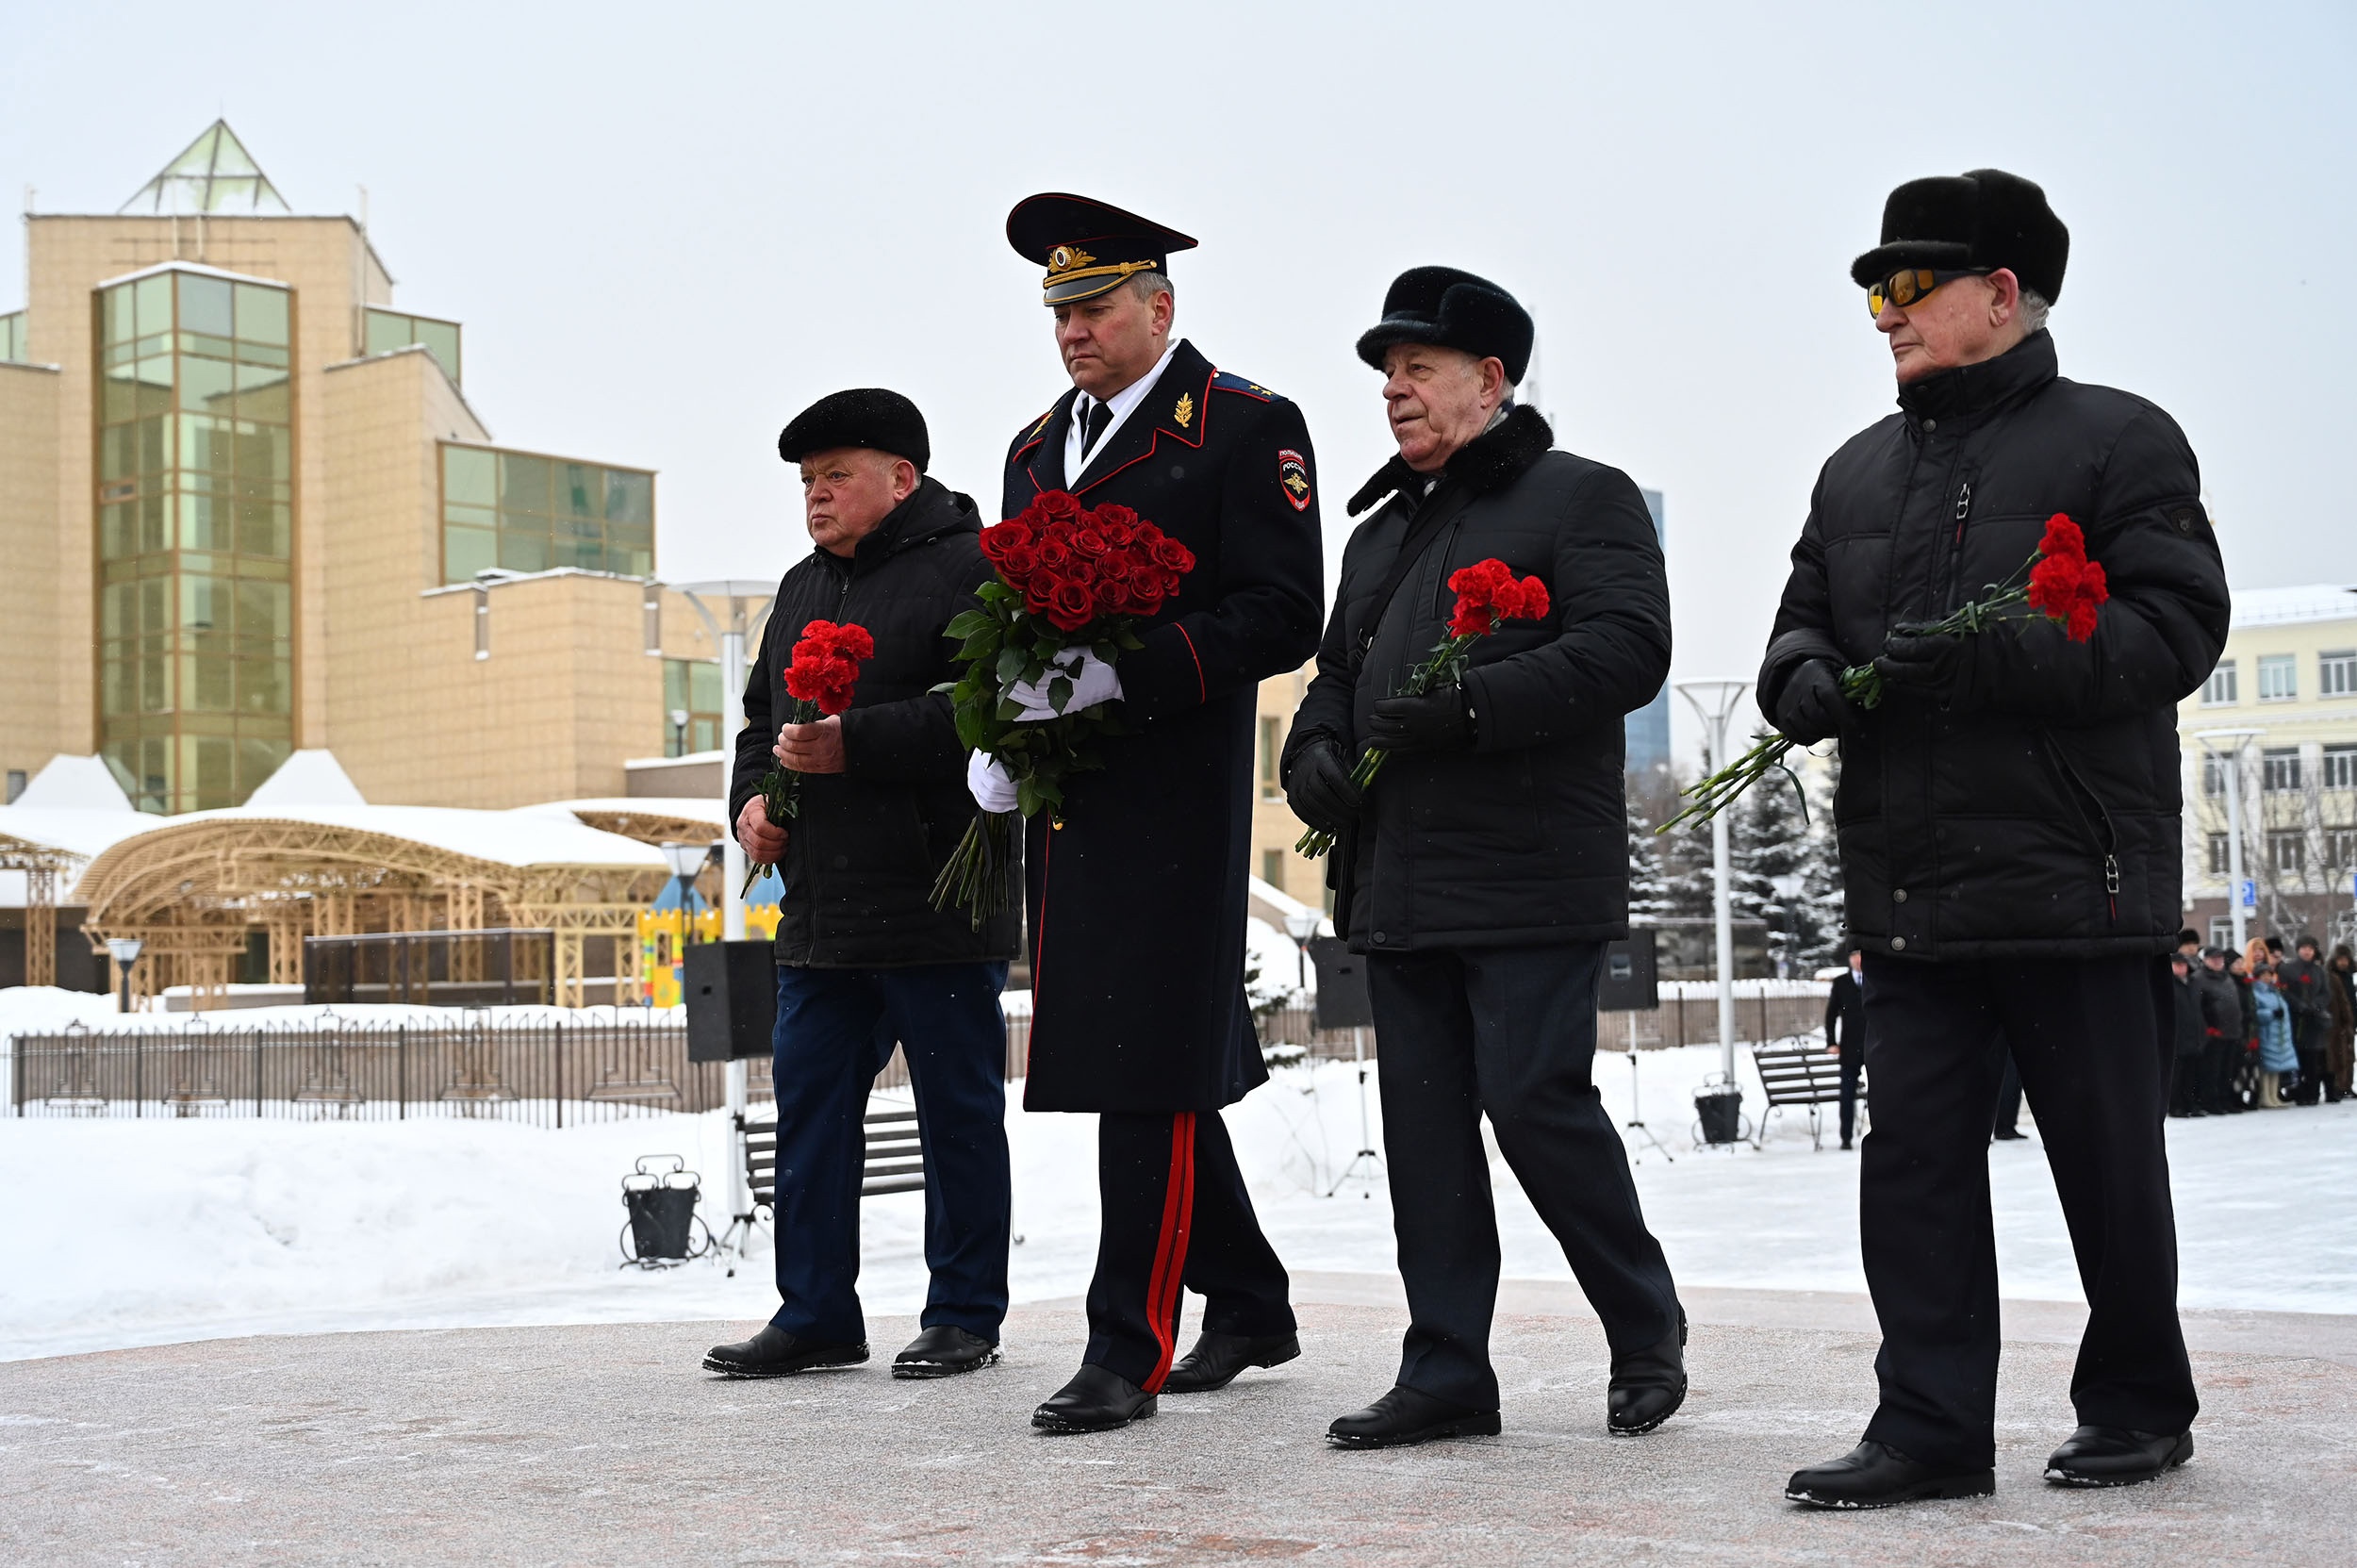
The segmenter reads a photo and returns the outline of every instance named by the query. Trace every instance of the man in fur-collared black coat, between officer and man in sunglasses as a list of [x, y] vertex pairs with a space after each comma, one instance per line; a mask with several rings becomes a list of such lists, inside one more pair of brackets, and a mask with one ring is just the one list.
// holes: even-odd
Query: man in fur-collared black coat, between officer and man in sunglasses
[[[1367, 953], [1409, 1330], [1398, 1386], [1341, 1448], [1499, 1431], [1499, 1243], [1480, 1118], [1596, 1304], [1615, 1434], [1685, 1398], [1685, 1313], [1591, 1082], [1596, 979], [1629, 929], [1622, 719], [1669, 674], [1669, 585], [1638, 488], [1553, 448], [1513, 401], [1532, 321], [1499, 285], [1417, 266], [1358, 340], [1400, 455], [1351, 498], [1318, 679], [1285, 745], [1287, 799], [1332, 832], [1334, 924]], [[1381, 505], [1376, 505], [1381, 502]], [[1546, 582], [1461, 686], [1393, 696], [1447, 637], [1450, 575], [1501, 559]], [[1369, 745], [1391, 759], [1351, 783]]]

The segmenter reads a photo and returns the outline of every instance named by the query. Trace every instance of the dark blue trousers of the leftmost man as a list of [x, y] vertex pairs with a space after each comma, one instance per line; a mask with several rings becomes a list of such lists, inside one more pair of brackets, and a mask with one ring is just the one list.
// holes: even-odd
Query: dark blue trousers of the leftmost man
[[778, 967], [778, 1313], [820, 1344], [867, 1339], [860, 1316], [860, 1172], [867, 1092], [907, 1054], [924, 1139], [924, 1327], [997, 1344], [1006, 1318], [1006, 964]]

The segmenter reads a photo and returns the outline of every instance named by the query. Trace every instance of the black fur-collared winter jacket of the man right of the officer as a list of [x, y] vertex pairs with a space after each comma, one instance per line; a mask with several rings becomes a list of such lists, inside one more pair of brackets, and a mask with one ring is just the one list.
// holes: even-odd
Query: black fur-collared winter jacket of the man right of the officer
[[[1353, 950], [1629, 929], [1622, 719], [1669, 674], [1669, 582], [1636, 483], [1551, 443], [1537, 410], [1513, 408], [1431, 493], [1395, 457], [1351, 502], [1391, 493], [1343, 549], [1318, 677], [1285, 743], [1287, 778], [1318, 736], [1358, 755], [1374, 703], [1447, 634], [1450, 573], [1497, 556], [1553, 599], [1546, 620], [1508, 620], [1473, 644], [1471, 750], [1388, 759], [1334, 846], [1327, 887]], [[1372, 599], [1417, 519], [1438, 533], [1376, 618]]]

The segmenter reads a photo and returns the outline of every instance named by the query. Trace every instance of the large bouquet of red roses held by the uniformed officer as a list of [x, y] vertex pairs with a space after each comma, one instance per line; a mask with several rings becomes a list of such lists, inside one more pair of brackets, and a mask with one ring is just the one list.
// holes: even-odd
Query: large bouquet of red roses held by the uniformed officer
[[[1096, 738], [1122, 733], [1110, 700], [1070, 707], [1082, 655], [1113, 665], [1141, 648], [1136, 622], [1195, 571], [1193, 549], [1129, 507], [1082, 507], [1068, 490], [1047, 490], [1021, 516], [983, 528], [983, 556], [997, 575], [973, 589], [981, 608], [945, 627], [962, 639], [952, 658], [966, 672], [940, 691], [966, 750], [992, 757], [1014, 780], [1016, 809], [981, 811], [933, 884], [933, 908], [957, 901], [976, 929], [997, 910], [1014, 816], [1061, 813], [1063, 780], [1101, 769]], [[1054, 717], [1014, 700], [1014, 686], [1042, 691]]]

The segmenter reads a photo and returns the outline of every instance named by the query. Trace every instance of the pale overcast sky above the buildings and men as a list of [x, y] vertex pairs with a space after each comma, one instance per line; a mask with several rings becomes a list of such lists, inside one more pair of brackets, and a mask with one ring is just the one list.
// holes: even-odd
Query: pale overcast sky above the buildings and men
[[1558, 441], [1669, 495], [1676, 672], [1749, 677], [1817, 465], [1890, 408], [1848, 259], [1893, 184], [1999, 165], [2072, 226], [2065, 375], [2185, 424], [2237, 587], [2357, 582], [2345, 2], [5, 14], [0, 189], [111, 212], [217, 113], [297, 212], [365, 184], [495, 439], [660, 469], [669, 578], [806, 549], [773, 441], [837, 387], [915, 396], [990, 512], [1063, 387], [1002, 224], [1063, 189], [1202, 238], [1178, 325], [1303, 406], [1329, 561], [1384, 285], [1511, 288]]

